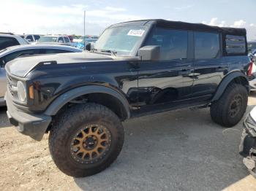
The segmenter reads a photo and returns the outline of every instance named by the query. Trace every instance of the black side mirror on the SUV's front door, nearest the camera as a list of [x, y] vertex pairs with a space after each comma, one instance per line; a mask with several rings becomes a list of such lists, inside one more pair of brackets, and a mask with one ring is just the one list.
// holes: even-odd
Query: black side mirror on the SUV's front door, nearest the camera
[[159, 46], [145, 46], [139, 49], [138, 55], [142, 61], [158, 61], [160, 58]]

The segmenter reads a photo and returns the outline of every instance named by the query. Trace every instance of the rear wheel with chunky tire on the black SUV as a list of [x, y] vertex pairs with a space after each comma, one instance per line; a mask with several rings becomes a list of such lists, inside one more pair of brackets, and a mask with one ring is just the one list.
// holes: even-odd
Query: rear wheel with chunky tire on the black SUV
[[211, 119], [219, 125], [233, 127], [246, 112], [248, 91], [239, 84], [231, 84], [218, 101], [211, 104]]

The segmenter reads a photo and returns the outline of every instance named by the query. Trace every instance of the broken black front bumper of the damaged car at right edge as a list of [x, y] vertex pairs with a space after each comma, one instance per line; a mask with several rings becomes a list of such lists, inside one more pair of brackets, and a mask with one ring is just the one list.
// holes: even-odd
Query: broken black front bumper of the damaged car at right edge
[[243, 163], [249, 173], [256, 178], [256, 137], [246, 128], [245, 122], [239, 145], [239, 153], [244, 157]]

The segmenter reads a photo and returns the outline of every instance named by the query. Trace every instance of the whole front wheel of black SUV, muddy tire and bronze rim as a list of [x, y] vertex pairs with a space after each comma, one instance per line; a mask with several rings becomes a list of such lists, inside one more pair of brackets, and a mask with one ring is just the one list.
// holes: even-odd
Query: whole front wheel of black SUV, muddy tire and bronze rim
[[64, 174], [97, 174], [121, 152], [124, 129], [116, 114], [105, 106], [73, 106], [54, 123], [49, 137], [50, 154]]

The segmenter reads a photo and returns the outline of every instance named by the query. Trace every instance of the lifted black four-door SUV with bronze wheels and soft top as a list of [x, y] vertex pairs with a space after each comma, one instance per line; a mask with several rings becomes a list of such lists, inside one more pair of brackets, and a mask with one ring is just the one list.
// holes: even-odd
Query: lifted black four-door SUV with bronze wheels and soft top
[[246, 111], [249, 62], [245, 29], [118, 23], [89, 52], [7, 63], [7, 114], [37, 141], [50, 132], [50, 154], [61, 171], [89, 176], [116, 160], [121, 121], [130, 117], [210, 106], [214, 122], [236, 125]]

